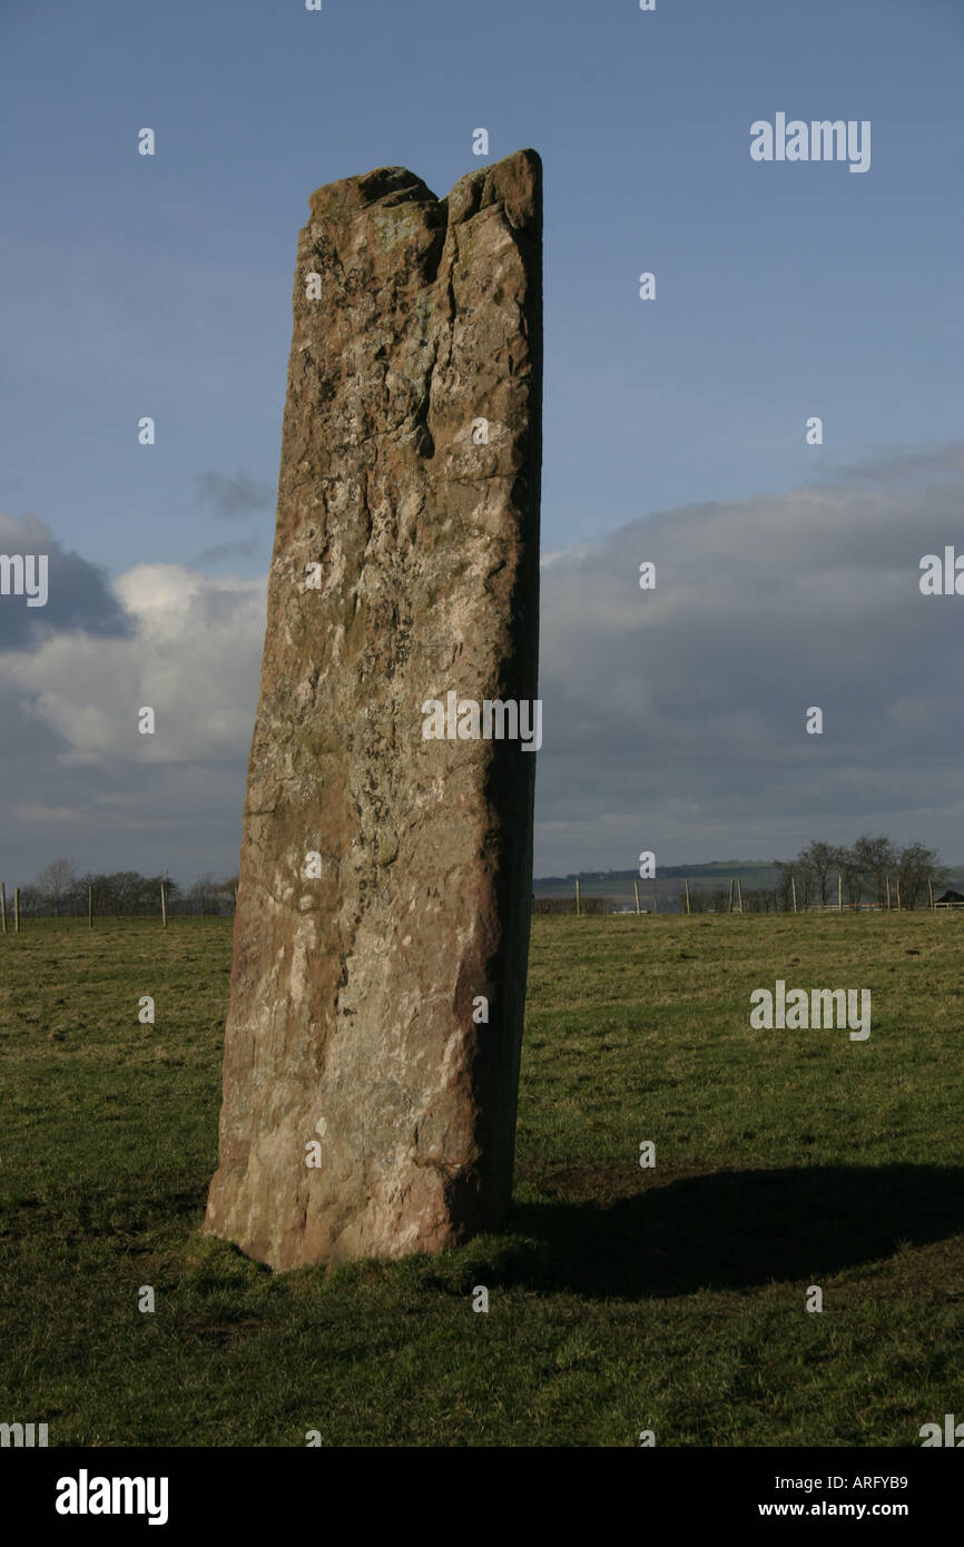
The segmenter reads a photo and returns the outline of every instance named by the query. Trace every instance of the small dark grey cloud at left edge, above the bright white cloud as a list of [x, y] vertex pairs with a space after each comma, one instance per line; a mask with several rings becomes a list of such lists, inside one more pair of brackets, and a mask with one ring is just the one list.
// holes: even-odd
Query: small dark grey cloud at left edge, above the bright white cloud
[[0, 512], [0, 554], [46, 555], [48, 577], [45, 606], [28, 606], [26, 596], [0, 596], [0, 650], [20, 650], [67, 630], [113, 637], [130, 633], [107, 571], [67, 552], [36, 517]]

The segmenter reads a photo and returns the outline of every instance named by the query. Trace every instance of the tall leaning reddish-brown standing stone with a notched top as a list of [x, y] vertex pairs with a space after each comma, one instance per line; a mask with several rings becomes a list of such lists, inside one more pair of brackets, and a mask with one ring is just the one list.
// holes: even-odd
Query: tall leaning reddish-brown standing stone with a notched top
[[[509, 1200], [540, 172], [520, 150], [436, 200], [382, 167], [319, 189], [299, 240], [206, 1222], [275, 1269], [438, 1252]], [[467, 701], [497, 699], [529, 750], [501, 704], [472, 736]]]

